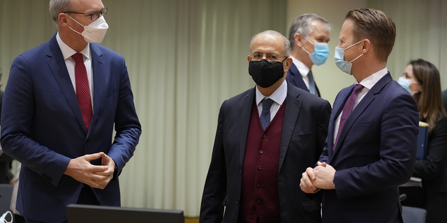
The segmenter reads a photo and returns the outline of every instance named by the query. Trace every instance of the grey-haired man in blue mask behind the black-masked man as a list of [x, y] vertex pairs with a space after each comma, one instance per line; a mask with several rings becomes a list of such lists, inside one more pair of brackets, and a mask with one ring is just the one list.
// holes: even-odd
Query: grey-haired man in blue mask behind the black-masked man
[[318, 97], [321, 95], [312, 74], [312, 66], [320, 66], [328, 59], [330, 29], [327, 20], [309, 13], [296, 17], [288, 31], [293, 64], [287, 72], [287, 80]]

